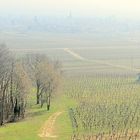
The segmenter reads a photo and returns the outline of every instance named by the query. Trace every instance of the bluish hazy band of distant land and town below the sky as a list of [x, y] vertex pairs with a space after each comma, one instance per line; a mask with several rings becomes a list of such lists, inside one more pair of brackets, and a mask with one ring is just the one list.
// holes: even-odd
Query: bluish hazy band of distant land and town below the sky
[[116, 17], [65, 18], [0, 17], [1, 31], [41, 31], [55, 33], [130, 34], [140, 33], [140, 22]]

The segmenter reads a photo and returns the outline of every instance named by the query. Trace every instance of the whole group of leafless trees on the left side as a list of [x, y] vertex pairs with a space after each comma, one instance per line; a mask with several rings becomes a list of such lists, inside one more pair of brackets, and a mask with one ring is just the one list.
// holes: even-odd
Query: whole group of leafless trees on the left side
[[0, 125], [24, 118], [32, 88], [36, 88], [36, 103], [41, 107], [47, 103], [49, 110], [60, 75], [59, 62], [49, 61], [43, 54], [17, 59], [5, 45], [0, 45]]

